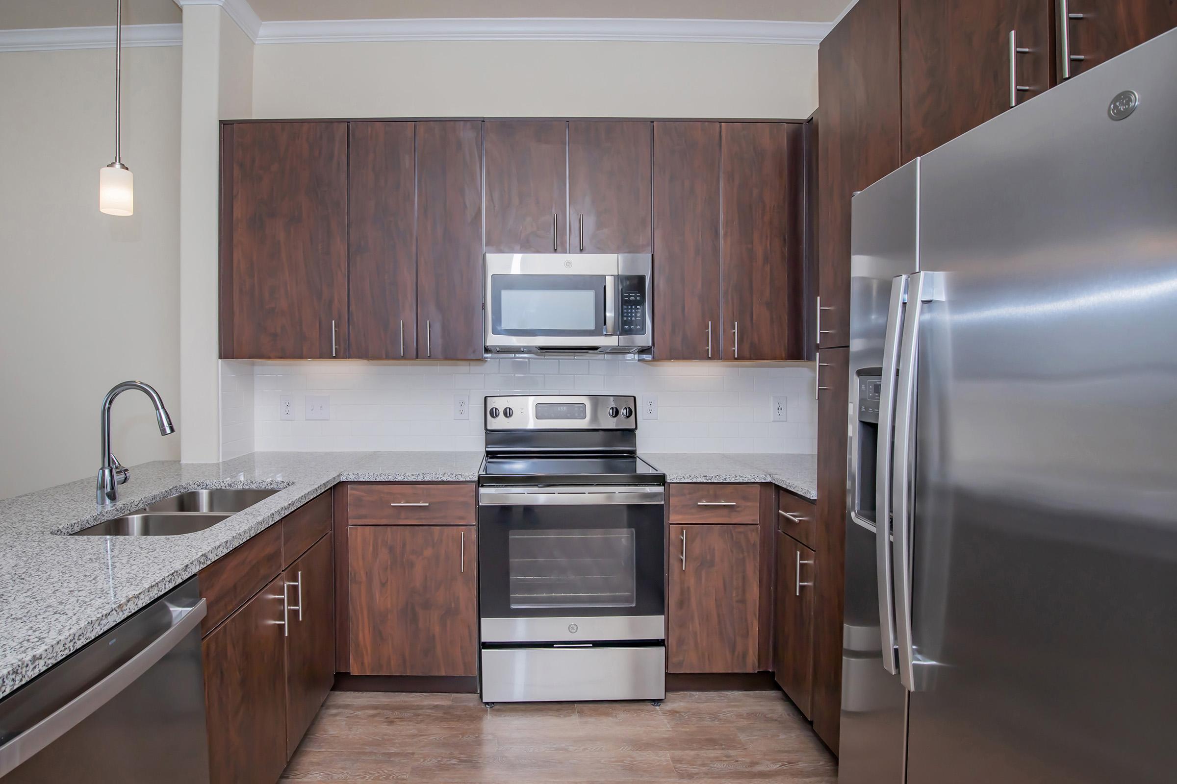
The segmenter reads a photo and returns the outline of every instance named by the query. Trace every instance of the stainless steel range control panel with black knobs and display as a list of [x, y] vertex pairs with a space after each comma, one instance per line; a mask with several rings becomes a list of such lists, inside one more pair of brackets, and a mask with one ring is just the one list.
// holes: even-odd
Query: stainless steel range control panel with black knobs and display
[[493, 395], [487, 430], [637, 430], [632, 395]]

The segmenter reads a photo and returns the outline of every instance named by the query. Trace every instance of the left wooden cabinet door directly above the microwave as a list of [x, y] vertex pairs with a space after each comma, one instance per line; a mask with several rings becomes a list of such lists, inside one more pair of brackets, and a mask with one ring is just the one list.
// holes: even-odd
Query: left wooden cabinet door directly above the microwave
[[486, 122], [486, 252], [568, 249], [567, 123]]

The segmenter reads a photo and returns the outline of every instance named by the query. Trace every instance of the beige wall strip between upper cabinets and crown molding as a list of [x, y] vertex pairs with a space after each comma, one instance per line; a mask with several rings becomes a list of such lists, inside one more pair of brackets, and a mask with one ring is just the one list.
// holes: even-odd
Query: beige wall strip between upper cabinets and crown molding
[[817, 47], [413, 41], [254, 47], [253, 116], [806, 118]]

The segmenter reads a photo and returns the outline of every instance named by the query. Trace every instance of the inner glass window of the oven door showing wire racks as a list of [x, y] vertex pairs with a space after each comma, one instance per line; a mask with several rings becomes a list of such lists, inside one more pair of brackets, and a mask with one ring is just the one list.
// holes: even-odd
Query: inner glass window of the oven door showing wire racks
[[636, 544], [632, 528], [511, 531], [511, 609], [633, 607]]

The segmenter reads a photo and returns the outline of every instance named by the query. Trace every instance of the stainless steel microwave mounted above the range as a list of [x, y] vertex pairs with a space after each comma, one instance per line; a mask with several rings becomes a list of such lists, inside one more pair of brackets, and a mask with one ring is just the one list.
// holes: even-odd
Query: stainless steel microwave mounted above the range
[[649, 253], [488, 253], [486, 350], [634, 354], [653, 346]]

